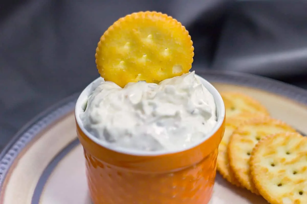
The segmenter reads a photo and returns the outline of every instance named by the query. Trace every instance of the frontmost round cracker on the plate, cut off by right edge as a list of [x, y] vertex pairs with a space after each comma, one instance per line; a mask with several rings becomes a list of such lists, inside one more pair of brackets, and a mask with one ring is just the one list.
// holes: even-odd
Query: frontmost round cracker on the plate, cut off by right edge
[[287, 132], [270, 135], [254, 148], [251, 177], [271, 204], [307, 202], [307, 138]]

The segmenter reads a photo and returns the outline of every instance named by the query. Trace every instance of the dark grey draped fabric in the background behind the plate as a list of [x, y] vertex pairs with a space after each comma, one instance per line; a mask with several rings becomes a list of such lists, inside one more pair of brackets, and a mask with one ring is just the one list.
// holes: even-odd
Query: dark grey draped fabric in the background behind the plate
[[50, 105], [99, 76], [95, 48], [119, 17], [157, 10], [181, 21], [193, 69], [249, 72], [307, 87], [304, 1], [2, 1], [0, 146]]

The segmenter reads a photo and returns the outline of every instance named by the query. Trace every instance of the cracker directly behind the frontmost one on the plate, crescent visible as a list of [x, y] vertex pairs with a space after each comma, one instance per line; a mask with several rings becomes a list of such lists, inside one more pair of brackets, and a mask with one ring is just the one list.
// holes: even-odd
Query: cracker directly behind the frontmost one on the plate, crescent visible
[[243, 187], [259, 194], [251, 181], [249, 160], [258, 141], [278, 132], [295, 132], [290, 125], [270, 117], [257, 118], [240, 125], [230, 137], [227, 154], [229, 165]]

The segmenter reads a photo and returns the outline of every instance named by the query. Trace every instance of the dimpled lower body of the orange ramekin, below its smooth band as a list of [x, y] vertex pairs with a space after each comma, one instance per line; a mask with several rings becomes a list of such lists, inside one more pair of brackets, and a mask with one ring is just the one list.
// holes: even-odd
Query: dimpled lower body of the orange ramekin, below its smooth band
[[144, 174], [98, 161], [84, 151], [94, 203], [208, 203], [216, 176], [217, 150], [200, 163], [172, 173]]

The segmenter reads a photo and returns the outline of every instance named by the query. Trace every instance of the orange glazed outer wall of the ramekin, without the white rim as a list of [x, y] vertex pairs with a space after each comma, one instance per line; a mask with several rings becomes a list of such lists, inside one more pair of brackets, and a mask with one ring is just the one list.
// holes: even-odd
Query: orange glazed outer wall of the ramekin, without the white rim
[[[216, 176], [217, 147], [222, 135], [223, 126], [210, 139], [202, 143], [200, 148], [196, 147], [195, 151], [186, 151], [181, 155], [171, 154], [167, 160], [173, 160], [173, 162], [165, 164], [161, 159], [163, 156], [154, 156], [157, 157], [156, 159], [143, 157], [137, 161], [123, 158], [121, 163], [117, 160], [120, 157], [115, 154], [107, 156], [106, 152], [100, 151], [99, 146], [91, 143], [91, 140], [79, 132], [79, 139], [84, 146], [87, 181], [93, 203], [208, 203], [212, 196]], [[212, 149], [210, 147], [215, 148], [199, 162], [193, 162], [206, 154], [207, 151], [201, 152], [200, 149]], [[197, 151], [200, 151], [200, 157]], [[110, 158], [114, 158], [115, 161]], [[112, 161], [114, 164], [110, 164]], [[150, 167], [146, 171], [140, 171], [144, 169], [142, 165], [146, 163]], [[183, 163], [190, 165], [176, 169]], [[165, 169], [172, 170], [160, 172], [161, 165], [164, 165]]]

